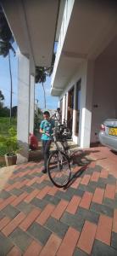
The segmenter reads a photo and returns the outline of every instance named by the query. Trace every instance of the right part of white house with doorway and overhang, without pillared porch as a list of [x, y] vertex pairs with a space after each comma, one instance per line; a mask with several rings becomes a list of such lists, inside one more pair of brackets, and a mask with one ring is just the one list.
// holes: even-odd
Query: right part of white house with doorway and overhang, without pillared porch
[[116, 1], [65, 1], [51, 93], [81, 148], [117, 117]]

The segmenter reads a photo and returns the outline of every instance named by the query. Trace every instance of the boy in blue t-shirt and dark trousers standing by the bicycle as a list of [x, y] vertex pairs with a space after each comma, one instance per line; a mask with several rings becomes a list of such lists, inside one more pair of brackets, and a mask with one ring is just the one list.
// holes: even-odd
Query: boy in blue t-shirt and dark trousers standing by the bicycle
[[43, 120], [40, 125], [40, 132], [42, 133], [42, 151], [44, 155], [44, 169], [43, 173], [47, 172], [47, 159], [49, 157], [49, 149], [52, 141], [52, 133], [53, 133], [54, 122], [50, 119], [50, 113], [45, 111], [43, 113]]

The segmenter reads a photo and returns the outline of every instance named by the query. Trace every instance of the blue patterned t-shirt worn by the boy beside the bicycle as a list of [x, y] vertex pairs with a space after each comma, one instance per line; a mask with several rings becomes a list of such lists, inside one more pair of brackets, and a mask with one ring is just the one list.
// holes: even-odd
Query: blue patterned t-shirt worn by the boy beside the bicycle
[[44, 131], [47, 132], [50, 136], [47, 136], [47, 134], [42, 134], [41, 139], [44, 141], [51, 140], [52, 133], [53, 133], [53, 127], [54, 127], [54, 121], [53, 120], [42, 120], [40, 128]]

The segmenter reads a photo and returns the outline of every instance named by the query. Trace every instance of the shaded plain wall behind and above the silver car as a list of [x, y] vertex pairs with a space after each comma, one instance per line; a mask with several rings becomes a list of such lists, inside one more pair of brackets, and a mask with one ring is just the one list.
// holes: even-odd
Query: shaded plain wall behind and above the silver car
[[107, 118], [117, 118], [117, 60], [100, 56], [94, 70], [91, 142], [98, 140], [100, 124]]

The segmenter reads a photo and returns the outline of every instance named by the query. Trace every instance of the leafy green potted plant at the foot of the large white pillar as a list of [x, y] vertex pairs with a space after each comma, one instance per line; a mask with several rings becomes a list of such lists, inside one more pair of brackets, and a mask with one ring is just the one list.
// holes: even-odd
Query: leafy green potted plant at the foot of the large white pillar
[[8, 130], [8, 137], [0, 137], [0, 145], [3, 145], [4, 148], [6, 166], [16, 165], [17, 153], [20, 151], [20, 145], [17, 141], [14, 128]]

